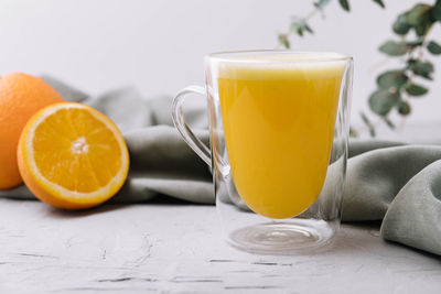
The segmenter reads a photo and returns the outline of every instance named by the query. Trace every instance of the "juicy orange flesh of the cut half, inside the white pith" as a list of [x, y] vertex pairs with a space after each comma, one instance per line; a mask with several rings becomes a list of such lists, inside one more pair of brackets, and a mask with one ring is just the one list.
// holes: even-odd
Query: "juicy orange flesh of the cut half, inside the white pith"
[[61, 109], [45, 118], [35, 129], [32, 145], [40, 173], [72, 192], [106, 186], [122, 164], [114, 133], [84, 109]]

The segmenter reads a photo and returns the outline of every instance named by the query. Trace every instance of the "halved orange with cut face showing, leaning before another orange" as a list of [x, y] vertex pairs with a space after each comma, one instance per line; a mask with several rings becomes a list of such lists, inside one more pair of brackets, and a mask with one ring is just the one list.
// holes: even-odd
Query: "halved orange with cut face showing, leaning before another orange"
[[129, 171], [117, 126], [92, 107], [62, 102], [36, 112], [18, 148], [20, 174], [42, 202], [64, 209], [89, 208], [112, 197]]

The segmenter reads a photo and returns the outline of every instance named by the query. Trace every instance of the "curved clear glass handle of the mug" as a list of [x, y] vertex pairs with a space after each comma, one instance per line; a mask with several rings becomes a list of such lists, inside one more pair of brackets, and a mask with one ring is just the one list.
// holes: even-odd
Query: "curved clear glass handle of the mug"
[[190, 86], [179, 91], [174, 97], [172, 105], [173, 122], [182, 138], [184, 138], [184, 141], [206, 164], [208, 164], [209, 168], [212, 168], [212, 155], [209, 149], [193, 133], [189, 123], [185, 121], [183, 106], [186, 96], [190, 94], [198, 94], [206, 97], [205, 88], [200, 86]]

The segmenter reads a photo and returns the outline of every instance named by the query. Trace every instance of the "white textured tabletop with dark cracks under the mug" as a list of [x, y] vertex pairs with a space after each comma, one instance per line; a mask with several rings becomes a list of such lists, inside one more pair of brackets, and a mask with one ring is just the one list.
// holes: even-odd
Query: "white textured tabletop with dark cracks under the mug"
[[229, 248], [213, 206], [65, 213], [0, 199], [0, 293], [441, 293], [441, 259], [343, 225], [334, 248], [259, 257]]

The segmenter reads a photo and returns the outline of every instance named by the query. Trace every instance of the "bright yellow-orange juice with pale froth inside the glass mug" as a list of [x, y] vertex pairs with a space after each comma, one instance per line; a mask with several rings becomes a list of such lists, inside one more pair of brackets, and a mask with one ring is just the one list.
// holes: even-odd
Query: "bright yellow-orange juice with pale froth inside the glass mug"
[[248, 207], [269, 218], [308, 209], [326, 176], [344, 64], [311, 61], [219, 66], [233, 178]]

